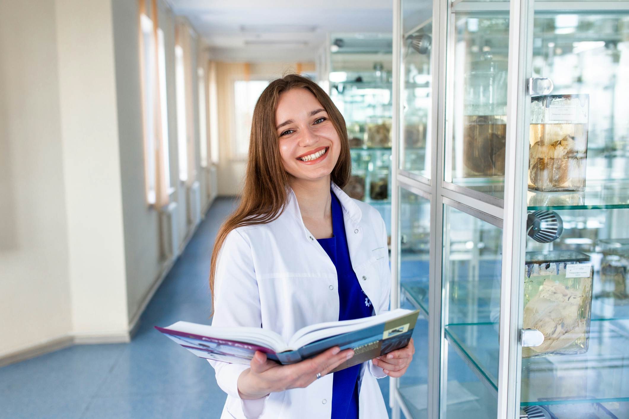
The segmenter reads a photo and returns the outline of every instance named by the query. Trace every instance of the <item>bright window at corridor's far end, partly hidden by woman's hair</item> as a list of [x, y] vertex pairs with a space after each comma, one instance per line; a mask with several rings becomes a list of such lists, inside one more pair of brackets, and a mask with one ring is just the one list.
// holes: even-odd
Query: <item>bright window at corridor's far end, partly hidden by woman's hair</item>
[[235, 144], [232, 156], [245, 158], [249, 150], [249, 136], [251, 134], [251, 119], [253, 108], [262, 90], [269, 82], [266, 80], [237, 80], [234, 82], [235, 104]]

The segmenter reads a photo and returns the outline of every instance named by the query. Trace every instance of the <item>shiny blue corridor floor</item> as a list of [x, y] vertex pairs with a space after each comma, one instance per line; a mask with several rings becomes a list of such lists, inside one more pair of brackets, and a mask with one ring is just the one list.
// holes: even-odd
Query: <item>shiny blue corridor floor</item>
[[[234, 208], [217, 199], [129, 344], [81, 345], [0, 368], [0, 418], [219, 418], [226, 395], [208, 362], [153, 325], [209, 323], [209, 259]], [[378, 380], [388, 403], [389, 380]]]

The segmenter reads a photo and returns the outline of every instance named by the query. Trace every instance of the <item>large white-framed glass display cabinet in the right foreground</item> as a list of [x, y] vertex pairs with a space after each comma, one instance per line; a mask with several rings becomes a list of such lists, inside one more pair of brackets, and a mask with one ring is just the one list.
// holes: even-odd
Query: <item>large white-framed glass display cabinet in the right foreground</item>
[[629, 419], [629, 0], [395, 0], [394, 419]]

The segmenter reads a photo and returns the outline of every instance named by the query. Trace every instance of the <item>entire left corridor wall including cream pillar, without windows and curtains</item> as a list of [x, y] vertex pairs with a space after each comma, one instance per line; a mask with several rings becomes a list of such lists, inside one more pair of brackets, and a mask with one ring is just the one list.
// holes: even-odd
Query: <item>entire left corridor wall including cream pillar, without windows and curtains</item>
[[[192, 226], [177, 164], [175, 18], [159, 4], [181, 245]], [[138, 21], [135, 1], [0, 0], [0, 364], [41, 346], [128, 340], [170, 266], [145, 199]]]

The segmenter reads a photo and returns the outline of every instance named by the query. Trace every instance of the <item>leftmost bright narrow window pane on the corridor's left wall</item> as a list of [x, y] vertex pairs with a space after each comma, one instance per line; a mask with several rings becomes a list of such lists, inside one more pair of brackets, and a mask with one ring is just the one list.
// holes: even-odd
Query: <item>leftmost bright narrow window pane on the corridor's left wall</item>
[[141, 71], [142, 71], [142, 112], [144, 129], [144, 174], [148, 204], [156, 201], [156, 166], [155, 166], [155, 39], [153, 38], [153, 21], [145, 14], [140, 15]]

